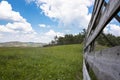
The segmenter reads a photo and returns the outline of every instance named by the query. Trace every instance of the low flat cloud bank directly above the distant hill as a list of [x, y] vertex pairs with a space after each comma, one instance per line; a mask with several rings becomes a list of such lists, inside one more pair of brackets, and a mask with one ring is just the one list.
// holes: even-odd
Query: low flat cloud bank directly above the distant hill
[[64, 36], [64, 33], [61, 32], [56, 32], [54, 30], [48, 30], [45, 33], [40, 33], [40, 34], [18, 34], [14, 35], [13, 33], [11, 34], [4, 34], [0, 35], [0, 42], [4, 41], [23, 41], [23, 42], [43, 42], [43, 43], [49, 43], [51, 40], [54, 39], [55, 36]]

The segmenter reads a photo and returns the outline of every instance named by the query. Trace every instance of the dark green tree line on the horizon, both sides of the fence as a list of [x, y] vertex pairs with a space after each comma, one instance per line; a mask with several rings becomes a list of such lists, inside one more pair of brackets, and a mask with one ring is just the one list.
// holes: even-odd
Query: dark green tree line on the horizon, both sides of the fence
[[[66, 34], [64, 37], [55, 36], [54, 40], [51, 41], [49, 45], [66, 45], [66, 44], [81, 44], [84, 42], [85, 31], [81, 32], [77, 35]], [[120, 36], [114, 36], [112, 34], [100, 34], [100, 36], [96, 39], [96, 43], [103, 46], [116, 46], [120, 45]]]

